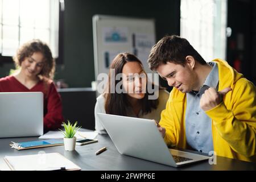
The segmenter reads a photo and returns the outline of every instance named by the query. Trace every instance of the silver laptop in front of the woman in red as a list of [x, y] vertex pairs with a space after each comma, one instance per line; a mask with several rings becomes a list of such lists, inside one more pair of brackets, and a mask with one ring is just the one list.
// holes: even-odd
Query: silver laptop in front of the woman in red
[[0, 138], [43, 135], [42, 92], [0, 92]]

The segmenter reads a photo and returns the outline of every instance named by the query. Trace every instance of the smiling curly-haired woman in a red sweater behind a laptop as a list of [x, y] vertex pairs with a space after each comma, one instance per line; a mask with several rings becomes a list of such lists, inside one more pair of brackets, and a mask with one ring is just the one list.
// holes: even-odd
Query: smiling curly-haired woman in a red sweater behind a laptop
[[37, 39], [24, 43], [14, 62], [17, 69], [13, 75], [0, 78], [0, 92], [43, 92], [44, 130], [59, 128], [63, 122], [62, 105], [52, 81], [55, 60], [47, 44]]

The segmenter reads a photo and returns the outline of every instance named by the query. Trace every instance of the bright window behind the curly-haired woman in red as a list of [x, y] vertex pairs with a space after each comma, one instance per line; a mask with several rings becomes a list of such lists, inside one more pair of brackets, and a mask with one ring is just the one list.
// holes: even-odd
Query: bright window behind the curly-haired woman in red
[[0, 0], [0, 53], [14, 56], [31, 39], [40, 39], [58, 56], [59, 0]]

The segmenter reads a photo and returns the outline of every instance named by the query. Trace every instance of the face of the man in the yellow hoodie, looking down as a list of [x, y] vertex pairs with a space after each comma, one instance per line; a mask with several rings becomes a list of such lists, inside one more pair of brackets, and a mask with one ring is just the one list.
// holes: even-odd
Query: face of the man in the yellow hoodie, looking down
[[160, 65], [156, 71], [164, 80], [167, 80], [169, 86], [174, 86], [182, 93], [191, 92], [195, 88], [197, 78], [188, 63], [183, 66], [168, 62]]

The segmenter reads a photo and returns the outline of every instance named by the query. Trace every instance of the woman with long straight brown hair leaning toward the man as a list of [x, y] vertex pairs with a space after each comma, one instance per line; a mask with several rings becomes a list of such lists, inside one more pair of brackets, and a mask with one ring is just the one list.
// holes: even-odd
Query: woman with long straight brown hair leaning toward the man
[[[113, 74], [115, 78], [113, 78]], [[116, 79], [118, 75], [120, 79]], [[103, 94], [97, 98], [94, 109], [95, 129], [100, 134], [106, 133], [97, 113], [123, 115], [129, 117], [155, 119], [159, 121], [160, 113], [165, 109], [169, 93], [159, 90], [159, 97], [150, 99], [148, 85], [157, 90], [157, 85], [148, 81], [146, 72], [138, 57], [130, 53], [119, 53], [110, 65], [108, 85]], [[113, 80], [113, 81], [111, 81]], [[120, 84], [121, 83], [121, 84]], [[114, 92], [113, 92], [114, 88]], [[119, 90], [117, 90], [119, 89]]]

